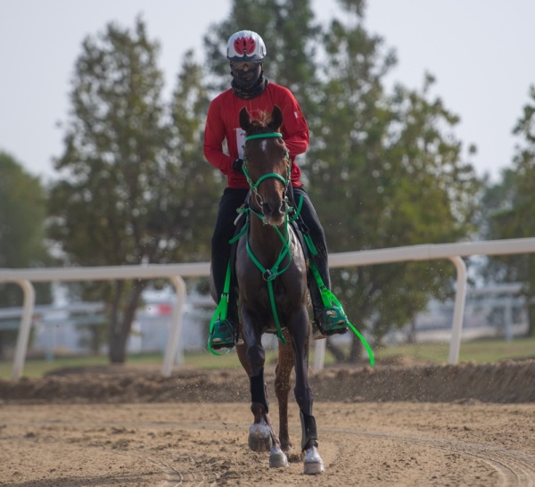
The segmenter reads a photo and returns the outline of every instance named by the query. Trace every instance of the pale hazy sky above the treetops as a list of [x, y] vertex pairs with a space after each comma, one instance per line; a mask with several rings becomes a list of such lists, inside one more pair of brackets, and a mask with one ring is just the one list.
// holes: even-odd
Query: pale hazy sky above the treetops
[[[161, 42], [159, 65], [169, 93], [185, 51], [193, 48], [201, 59], [202, 36], [226, 18], [230, 4], [0, 0], [0, 150], [44, 181], [53, 178], [52, 159], [62, 153], [57, 122], [67, 120], [70, 78], [84, 37], [110, 21], [132, 28], [142, 13], [149, 37]], [[313, 5], [320, 21], [336, 12], [335, 0]], [[478, 174], [496, 180], [511, 163], [511, 130], [535, 84], [534, 19], [533, 0], [369, 0], [366, 28], [397, 51], [389, 84], [420, 87], [426, 70], [437, 78], [432, 94], [461, 117], [456, 134], [465, 146], [477, 145]]]

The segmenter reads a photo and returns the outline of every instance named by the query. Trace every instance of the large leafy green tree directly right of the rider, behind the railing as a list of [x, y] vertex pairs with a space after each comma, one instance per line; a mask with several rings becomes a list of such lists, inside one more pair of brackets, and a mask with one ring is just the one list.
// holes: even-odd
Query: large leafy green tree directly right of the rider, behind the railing
[[[345, 22], [325, 32], [328, 70], [319, 97], [319, 120], [306, 168], [309, 192], [321, 201], [318, 212], [330, 252], [399, 245], [443, 243], [473, 231], [479, 187], [462, 144], [453, 134], [458, 122], [430, 94], [427, 75], [418, 92], [398, 86], [392, 95], [384, 75], [395, 64], [383, 39], [364, 27], [364, 2], [342, 2]], [[344, 211], [340, 211], [343, 208]], [[441, 262], [380, 265], [333, 272], [353, 323], [379, 341], [394, 326], [410, 323], [432, 296], [444, 297], [452, 283]], [[358, 358], [353, 342], [349, 358]]]

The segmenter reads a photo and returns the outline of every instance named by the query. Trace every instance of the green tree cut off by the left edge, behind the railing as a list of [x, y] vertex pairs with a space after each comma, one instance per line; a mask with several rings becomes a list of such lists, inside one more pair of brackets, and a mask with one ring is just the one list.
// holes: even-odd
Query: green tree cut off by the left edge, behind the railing
[[[45, 245], [45, 190], [12, 155], [0, 152], [0, 268], [38, 268], [51, 258]], [[21, 306], [21, 288], [0, 283], [0, 307]], [[36, 285], [36, 301], [52, 301], [51, 286]], [[16, 331], [0, 333], [0, 357]]]

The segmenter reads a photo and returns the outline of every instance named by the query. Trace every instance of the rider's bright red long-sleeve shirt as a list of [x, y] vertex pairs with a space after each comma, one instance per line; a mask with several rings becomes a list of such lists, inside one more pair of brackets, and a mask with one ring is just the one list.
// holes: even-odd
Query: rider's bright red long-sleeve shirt
[[[240, 110], [246, 107], [254, 119], [263, 111], [271, 113], [274, 105], [278, 105], [283, 111], [281, 132], [292, 160], [292, 185], [302, 186], [295, 156], [304, 153], [309, 146], [309, 127], [292, 92], [275, 83], [268, 83], [268, 87], [251, 100], [239, 98], [231, 88], [210, 103], [204, 129], [204, 156], [210, 164], [226, 175], [228, 187], [249, 188], [243, 174], [232, 170], [235, 159], [243, 158], [245, 134], [240, 127]], [[225, 139], [228, 154], [223, 152]]]

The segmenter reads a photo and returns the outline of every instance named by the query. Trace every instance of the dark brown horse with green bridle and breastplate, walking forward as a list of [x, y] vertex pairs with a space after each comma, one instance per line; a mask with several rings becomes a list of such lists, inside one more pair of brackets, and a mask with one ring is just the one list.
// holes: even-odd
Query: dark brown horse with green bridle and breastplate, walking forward
[[[243, 172], [251, 186], [246, 231], [237, 241], [237, 283], [241, 340], [236, 345], [251, 386], [254, 422], [248, 444], [254, 451], [269, 451], [269, 466], [288, 466], [292, 452], [288, 433], [288, 396], [295, 367], [295, 400], [300, 408], [301, 452], [304, 474], [325, 471], [318, 453], [317, 425], [312, 415], [313, 393], [309, 385], [309, 289], [305, 254], [292, 225], [289, 193], [291, 161], [280, 133], [283, 114], [278, 106], [266, 120], [251, 120], [240, 111], [245, 132]], [[264, 333], [279, 337], [275, 391], [279, 406], [277, 437], [269, 417], [264, 382]]]

